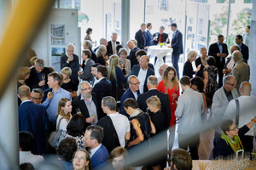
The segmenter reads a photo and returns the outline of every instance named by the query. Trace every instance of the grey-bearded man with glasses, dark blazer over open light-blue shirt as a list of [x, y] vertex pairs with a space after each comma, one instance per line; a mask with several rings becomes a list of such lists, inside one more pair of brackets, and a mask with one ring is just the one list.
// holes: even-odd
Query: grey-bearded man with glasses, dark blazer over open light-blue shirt
[[79, 109], [84, 116], [85, 127], [90, 126], [90, 124], [96, 125], [99, 120], [99, 108], [96, 94], [91, 94], [90, 84], [86, 81], [80, 82], [78, 94], [79, 96], [72, 101], [72, 115], [78, 113]]

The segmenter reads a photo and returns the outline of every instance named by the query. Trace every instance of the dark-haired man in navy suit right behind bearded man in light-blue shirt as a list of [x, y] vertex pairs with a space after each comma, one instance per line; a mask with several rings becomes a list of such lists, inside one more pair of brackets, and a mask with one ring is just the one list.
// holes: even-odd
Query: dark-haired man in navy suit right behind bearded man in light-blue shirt
[[111, 96], [112, 91], [111, 82], [107, 79], [107, 76], [107, 67], [103, 65], [97, 66], [96, 79], [98, 79], [99, 82], [97, 82], [94, 88], [92, 88], [92, 92], [97, 95], [97, 104], [99, 107], [99, 120], [103, 116], [106, 116], [106, 114], [104, 114], [102, 111], [102, 98], [105, 96]]

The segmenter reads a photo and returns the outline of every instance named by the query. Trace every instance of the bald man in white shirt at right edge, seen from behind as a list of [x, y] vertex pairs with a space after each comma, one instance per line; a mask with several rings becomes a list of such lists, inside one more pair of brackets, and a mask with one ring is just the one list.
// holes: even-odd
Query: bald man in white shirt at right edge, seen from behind
[[[241, 94], [241, 96], [237, 98], [239, 103], [239, 121], [236, 122], [237, 105], [235, 99], [230, 101], [230, 104], [224, 113], [224, 120], [230, 119], [233, 122], [236, 122], [238, 127], [242, 127], [256, 116], [256, 99], [250, 95], [252, 91], [250, 82], [241, 82], [239, 91]], [[245, 151], [253, 149], [254, 127], [255, 126], [253, 126], [249, 132], [245, 133], [243, 138], [241, 138], [241, 144]]]

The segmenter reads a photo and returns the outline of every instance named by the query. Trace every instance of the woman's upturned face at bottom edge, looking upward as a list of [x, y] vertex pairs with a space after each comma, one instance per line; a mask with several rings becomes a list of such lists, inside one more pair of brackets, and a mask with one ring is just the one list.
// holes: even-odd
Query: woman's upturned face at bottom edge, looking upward
[[73, 170], [91, 170], [90, 155], [87, 150], [77, 150], [73, 154]]

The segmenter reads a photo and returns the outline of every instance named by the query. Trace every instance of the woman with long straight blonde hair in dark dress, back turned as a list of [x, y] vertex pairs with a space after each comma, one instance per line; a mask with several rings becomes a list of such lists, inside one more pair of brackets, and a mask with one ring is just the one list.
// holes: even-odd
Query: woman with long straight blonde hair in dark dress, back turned
[[119, 67], [119, 57], [115, 54], [111, 55], [108, 67], [108, 80], [112, 83], [112, 96], [119, 100], [124, 93], [122, 82], [127, 81], [122, 70]]

